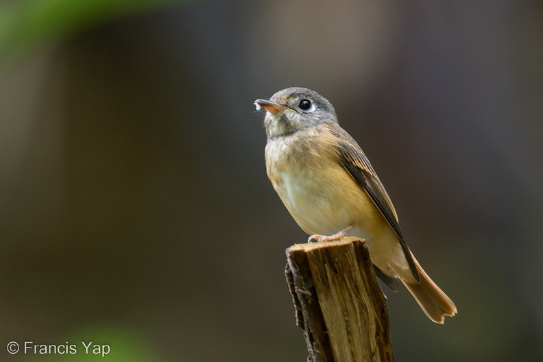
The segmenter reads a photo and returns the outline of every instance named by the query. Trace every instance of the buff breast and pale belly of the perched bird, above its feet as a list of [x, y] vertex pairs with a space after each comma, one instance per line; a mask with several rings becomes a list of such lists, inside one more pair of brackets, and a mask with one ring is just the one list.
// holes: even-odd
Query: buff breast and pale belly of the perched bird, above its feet
[[371, 217], [374, 206], [339, 164], [335, 145], [318, 139], [293, 134], [269, 140], [266, 168], [298, 225], [308, 234], [330, 235]]

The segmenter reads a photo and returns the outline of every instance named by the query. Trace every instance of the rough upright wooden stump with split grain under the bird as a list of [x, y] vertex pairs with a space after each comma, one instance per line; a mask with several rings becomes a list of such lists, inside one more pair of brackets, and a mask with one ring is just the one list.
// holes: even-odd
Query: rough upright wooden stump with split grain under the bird
[[394, 361], [386, 298], [361, 239], [293, 245], [287, 261], [308, 361]]

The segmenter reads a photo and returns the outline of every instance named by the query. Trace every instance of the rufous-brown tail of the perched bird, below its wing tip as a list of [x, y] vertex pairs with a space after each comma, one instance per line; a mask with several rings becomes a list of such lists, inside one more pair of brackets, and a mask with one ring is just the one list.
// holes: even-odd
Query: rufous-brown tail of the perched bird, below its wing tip
[[[413, 255], [413, 254], [411, 254]], [[426, 313], [426, 315], [435, 323], [444, 324], [445, 316], [453, 316], [457, 313], [455, 303], [437, 287], [435, 282], [424, 272], [418, 261], [413, 256], [413, 261], [417, 266], [420, 283], [409, 283], [404, 280], [405, 287], [411, 292], [415, 300]]]

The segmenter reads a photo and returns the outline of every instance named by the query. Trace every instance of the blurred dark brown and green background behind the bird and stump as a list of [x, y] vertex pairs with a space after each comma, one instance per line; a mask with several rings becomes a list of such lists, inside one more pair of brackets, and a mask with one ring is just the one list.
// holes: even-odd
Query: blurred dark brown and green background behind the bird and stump
[[542, 360], [538, 0], [1, 1], [0, 360], [306, 361], [306, 235], [252, 104], [288, 86], [333, 103], [458, 306], [385, 289], [396, 360]]

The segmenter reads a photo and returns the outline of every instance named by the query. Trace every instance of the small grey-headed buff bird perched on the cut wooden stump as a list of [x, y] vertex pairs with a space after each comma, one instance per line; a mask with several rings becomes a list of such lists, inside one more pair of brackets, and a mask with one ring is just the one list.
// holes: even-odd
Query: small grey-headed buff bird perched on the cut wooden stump
[[364, 239], [387, 286], [396, 290], [399, 278], [433, 322], [455, 315], [453, 301], [407, 247], [387, 191], [360, 146], [339, 127], [332, 104], [298, 87], [254, 104], [266, 111], [267, 176], [309, 241]]

